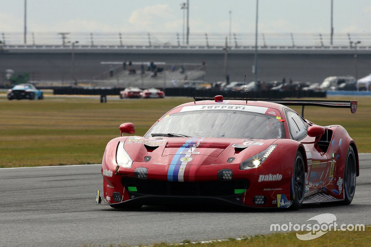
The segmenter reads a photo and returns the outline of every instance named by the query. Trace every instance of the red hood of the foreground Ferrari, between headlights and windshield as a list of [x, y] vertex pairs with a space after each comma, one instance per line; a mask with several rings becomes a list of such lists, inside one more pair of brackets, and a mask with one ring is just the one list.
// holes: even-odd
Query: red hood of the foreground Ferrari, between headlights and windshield
[[230, 157], [240, 163], [266, 150], [275, 140], [132, 136], [126, 138], [124, 149], [134, 162], [151, 156], [153, 164], [171, 164], [182, 157], [191, 157], [188, 165], [227, 164]]

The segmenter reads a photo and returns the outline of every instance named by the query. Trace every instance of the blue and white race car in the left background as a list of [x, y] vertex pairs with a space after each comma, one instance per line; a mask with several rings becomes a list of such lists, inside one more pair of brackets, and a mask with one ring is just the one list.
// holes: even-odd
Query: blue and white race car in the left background
[[44, 99], [43, 92], [41, 90], [36, 89], [35, 86], [32, 84], [19, 84], [14, 86], [12, 89], [8, 90], [7, 93], [8, 100], [21, 100], [21, 99], [29, 99], [29, 100], [42, 100]]

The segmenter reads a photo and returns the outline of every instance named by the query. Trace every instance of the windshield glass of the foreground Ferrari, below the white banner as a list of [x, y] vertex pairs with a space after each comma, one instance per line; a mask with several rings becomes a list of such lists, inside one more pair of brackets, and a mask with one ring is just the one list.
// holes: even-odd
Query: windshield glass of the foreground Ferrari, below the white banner
[[152, 133], [180, 133], [193, 137], [246, 139], [286, 138], [283, 122], [274, 116], [233, 110], [200, 110], [174, 113], [158, 121]]

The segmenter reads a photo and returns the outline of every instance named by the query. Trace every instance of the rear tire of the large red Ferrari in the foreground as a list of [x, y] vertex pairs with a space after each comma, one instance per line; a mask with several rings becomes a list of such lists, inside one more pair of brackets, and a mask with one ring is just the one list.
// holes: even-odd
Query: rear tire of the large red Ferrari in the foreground
[[356, 178], [357, 167], [355, 154], [353, 148], [349, 146], [344, 168], [344, 201], [341, 202], [343, 205], [349, 205], [353, 200]]

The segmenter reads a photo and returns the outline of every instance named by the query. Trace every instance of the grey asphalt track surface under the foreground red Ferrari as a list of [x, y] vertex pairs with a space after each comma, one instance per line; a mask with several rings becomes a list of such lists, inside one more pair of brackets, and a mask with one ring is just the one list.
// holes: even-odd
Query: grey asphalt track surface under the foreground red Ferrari
[[151, 244], [270, 233], [270, 224], [304, 224], [332, 213], [338, 224], [371, 224], [371, 154], [360, 154], [360, 176], [349, 206], [305, 205], [299, 211], [95, 205], [99, 165], [0, 169], [0, 246]]

